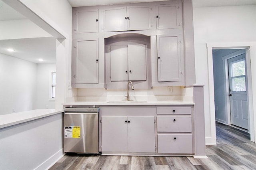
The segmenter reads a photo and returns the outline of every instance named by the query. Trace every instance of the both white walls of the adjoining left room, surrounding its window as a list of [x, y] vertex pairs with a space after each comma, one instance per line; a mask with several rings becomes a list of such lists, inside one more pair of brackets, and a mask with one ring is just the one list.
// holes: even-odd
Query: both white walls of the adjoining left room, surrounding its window
[[2, 53], [0, 60], [0, 115], [55, 109], [55, 101], [49, 101], [49, 95], [51, 72], [55, 72], [56, 64], [36, 64]]

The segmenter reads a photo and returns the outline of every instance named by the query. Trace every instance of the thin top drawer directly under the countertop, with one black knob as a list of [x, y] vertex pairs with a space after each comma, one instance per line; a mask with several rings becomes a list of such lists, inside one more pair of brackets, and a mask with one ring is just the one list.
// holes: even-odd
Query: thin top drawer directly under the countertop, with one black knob
[[156, 114], [184, 114], [191, 115], [191, 107], [157, 107]]

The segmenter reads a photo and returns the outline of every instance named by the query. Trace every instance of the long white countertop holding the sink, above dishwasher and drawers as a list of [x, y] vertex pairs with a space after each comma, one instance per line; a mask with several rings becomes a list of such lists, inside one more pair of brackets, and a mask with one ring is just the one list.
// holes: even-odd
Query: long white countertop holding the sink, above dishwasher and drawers
[[76, 101], [62, 105], [194, 105], [189, 101]]

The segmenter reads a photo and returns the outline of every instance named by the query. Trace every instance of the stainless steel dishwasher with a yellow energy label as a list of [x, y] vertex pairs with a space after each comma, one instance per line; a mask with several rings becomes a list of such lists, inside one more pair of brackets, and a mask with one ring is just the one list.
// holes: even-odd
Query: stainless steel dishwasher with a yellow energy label
[[99, 152], [98, 113], [98, 108], [64, 109], [64, 152]]

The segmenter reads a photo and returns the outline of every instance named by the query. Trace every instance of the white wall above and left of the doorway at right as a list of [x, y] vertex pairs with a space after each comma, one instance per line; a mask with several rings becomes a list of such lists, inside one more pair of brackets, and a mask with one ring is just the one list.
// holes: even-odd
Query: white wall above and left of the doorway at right
[[[204, 83], [206, 144], [216, 143], [215, 116], [210, 107], [206, 43], [256, 42], [256, 6], [193, 8], [196, 83]], [[255, 58], [255, 56], [251, 56]], [[252, 59], [252, 68], [255, 67]], [[252, 69], [252, 81], [256, 71]], [[255, 92], [253, 93], [255, 95]], [[255, 99], [255, 96], [253, 97]], [[214, 106], [213, 106], [214, 107]], [[254, 101], [254, 108], [256, 107]]]

